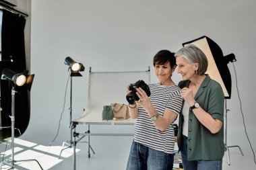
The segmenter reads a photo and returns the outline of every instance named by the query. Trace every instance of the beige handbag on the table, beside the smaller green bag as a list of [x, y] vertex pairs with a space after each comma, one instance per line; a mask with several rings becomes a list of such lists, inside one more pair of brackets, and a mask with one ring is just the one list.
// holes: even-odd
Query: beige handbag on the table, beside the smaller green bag
[[130, 118], [128, 105], [124, 103], [111, 103], [111, 108], [114, 113], [114, 118], [117, 120], [127, 120]]

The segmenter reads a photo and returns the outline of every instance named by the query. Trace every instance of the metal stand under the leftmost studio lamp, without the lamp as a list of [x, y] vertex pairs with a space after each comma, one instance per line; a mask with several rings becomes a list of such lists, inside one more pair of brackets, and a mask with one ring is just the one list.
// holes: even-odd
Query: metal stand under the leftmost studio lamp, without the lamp
[[23, 161], [36, 161], [38, 163], [40, 169], [42, 169], [40, 163], [36, 159], [26, 159], [26, 160], [19, 160], [15, 161], [14, 160], [14, 122], [15, 122], [15, 117], [14, 117], [14, 108], [15, 108], [15, 91], [14, 86], [11, 89], [11, 159], [7, 159], [7, 161], [3, 161], [4, 164], [9, 165], [9, 169], [13, 169], [15, 167], [16, 162], [23, 162]]

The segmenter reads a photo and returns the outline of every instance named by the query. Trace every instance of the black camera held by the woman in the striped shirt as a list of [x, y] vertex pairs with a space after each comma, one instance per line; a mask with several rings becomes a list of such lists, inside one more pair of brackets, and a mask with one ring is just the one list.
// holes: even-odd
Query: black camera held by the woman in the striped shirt
[[148, 87], [143, 80], [139, 80], [136, 83], [129, 85], [129, 90], [131, 90], [131, 92], [126, 95], [128, 103], [135, 104], [135, 101], [139, 100], [139, 97], [136, 94], [136, 88], [139, 87], [141, 87], [141, 89], [147, 93], [148, 97], [150, 97], [150, 87]]

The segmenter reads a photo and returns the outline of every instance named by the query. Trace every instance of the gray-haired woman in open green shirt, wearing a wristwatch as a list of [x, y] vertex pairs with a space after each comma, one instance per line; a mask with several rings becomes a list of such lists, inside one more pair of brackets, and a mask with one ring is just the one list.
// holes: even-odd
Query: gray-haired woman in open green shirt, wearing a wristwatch
[[183, 109], [179, 116], [178, 146], [185, 170], [222, 169], [224, 156], [224, 93], [220, 84], [205, 74], [205, 54], [187, 45], [175, 55]]

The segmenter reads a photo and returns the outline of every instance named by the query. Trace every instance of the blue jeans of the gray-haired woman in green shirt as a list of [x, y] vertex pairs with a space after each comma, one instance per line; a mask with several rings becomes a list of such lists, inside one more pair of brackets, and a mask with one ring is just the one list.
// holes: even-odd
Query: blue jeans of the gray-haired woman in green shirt
[[222, 170], [222, 160], [187, 161], [187, 136], [183, 135], [181, 159], [184, 170]]

